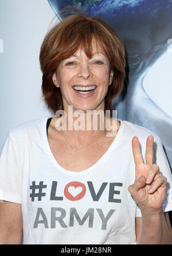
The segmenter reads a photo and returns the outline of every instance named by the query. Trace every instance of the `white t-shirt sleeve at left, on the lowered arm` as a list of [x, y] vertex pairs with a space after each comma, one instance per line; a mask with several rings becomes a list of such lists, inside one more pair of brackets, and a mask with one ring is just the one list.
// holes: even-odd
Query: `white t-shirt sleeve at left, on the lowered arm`
[[0, 155], [0, 200], [21, 204], [21, 163], [10, 131]]

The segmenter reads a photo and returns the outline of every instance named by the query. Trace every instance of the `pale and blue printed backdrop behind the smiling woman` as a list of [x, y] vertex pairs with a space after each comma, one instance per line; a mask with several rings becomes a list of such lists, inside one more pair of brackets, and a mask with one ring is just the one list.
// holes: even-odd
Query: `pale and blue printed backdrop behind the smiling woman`
[[159, 135], [172, 167], [172, 0], [0, 0], [0, 148], [9, 129], [53, 115], [41, 100], [38, 57], [54, 14], [67, 5], [103, 18], [122, 38], [128, 76], [114, 109]]

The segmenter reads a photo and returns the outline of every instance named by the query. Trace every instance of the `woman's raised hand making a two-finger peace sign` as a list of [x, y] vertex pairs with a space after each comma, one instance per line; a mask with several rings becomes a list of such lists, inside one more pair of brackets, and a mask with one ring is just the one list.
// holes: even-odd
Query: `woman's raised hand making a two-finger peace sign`
[[143, 163], [138, 137], [132, 138], [132, 152], [135, 161], [135, 182], [128, 187], [141, 210], [160, 212], [166, 194], [167, 179], [153, 164], [154, 137], [148, 136], [146, 142], [146, 163]]

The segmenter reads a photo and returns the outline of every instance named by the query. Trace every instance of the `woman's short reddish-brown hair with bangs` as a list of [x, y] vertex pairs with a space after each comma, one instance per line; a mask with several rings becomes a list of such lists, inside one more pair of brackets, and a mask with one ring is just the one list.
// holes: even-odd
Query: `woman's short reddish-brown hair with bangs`
[[103, 48], [114, 72], [112, 84], [104, 99], [104, 111], [112, 111], [112, 100], [122, 91], [126, 76], [123, 42], [114, 29], [101, 18], [78, 13], [65, 17], [51, 28], [46, 33], [40, 50], [42, 97], [54, 114], [57, 110], [64, 110], [60, 88], [52, 81], [54, 71], [62, 60], [74, 55], [79, 47], [91, 58], [93, 38]]

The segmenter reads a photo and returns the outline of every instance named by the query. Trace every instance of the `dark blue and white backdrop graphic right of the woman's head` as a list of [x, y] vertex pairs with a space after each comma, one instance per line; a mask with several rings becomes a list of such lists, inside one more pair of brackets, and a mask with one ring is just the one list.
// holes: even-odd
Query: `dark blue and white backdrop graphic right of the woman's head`
[[[167, 104], [168, 102], [171, 104], [169, 97], [171, 85], [168, 81], [163, 83], [165, 89], [159, 92], [160, 100], [157, 101], [154, 96], [158, 95], [158, 82], [162, 76], [165, 79], [166, 70], [172, 66], [172, 54], [168, 62], [162, 62], [169, 43], [172, 42], [172, 1], [48, 0], [48, 2], [57, 16], [64, 7], [74, 5], [83, 9], [89, 16], [107, 21], [118, 33], [126, 49], [127, 76], [123, 91], [114, 99], [113, 107], [118, 111], [118, 118], [144, 126], [159, 135], [172, 167], [172, 137], [167, 136], [172, 130], [172, 108]], [[158, 69], [154, 72], [154, 77], [145, 86], [146, 76], [156, 65]], [[171, 71], [169, 73], [171, 74]], [[163, 86], [159, 85], [159, 91]], [[152, 94], [148, 93], [149, 89]]]

